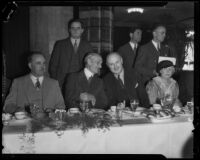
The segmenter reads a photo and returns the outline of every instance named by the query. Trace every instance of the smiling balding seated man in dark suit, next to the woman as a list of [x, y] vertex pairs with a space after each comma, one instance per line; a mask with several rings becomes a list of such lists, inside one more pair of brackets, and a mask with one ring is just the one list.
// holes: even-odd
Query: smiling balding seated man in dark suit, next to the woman
[[108, 54], [106, 64], [110, 69], [103, 78], [108, 105], [117, 105], [124, 100], [129, 105], [130, 100], [136, 98], [140, 106], [148, 108], [148, 95], [135, 70], [124, 68], [123, 59], [117, 52]]

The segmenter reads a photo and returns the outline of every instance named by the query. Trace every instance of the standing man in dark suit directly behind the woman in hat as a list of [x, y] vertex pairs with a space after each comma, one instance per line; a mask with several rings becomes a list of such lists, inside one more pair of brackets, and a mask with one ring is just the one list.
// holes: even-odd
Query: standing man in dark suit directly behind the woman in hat
[[163, 25], [156, 25], [153, 29], [153, 39], [140, 47], [135, 62], [135, 69], [141, 75], [144, 85], [157, 76], [156, 66], [159, 56], [169, 55], [168, 48], [161, 43], [166, 36], [166, 28]]

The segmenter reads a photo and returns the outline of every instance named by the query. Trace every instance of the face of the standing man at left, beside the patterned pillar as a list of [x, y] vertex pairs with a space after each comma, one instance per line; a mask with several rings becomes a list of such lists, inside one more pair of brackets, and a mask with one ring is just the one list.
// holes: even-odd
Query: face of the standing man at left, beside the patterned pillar
[[78, 39], [81, 37], [82, 33], [83, 33], [83, 28], [81, 26], [80, 22], [72, 22], [70, 28], [69, 28], [69, 32], [72, 38], [74, 39]]

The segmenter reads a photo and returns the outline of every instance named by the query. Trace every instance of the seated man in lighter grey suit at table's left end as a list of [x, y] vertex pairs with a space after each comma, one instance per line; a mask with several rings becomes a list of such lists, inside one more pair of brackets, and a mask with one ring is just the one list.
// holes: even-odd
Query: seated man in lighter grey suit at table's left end
[[14, 79], [3, 107], [6, 113], [25, 110], [35, 104], [40, 112], [65, 109], [58, 81], [45, 76], [46, 60], [42, 53], [32, 52], [28, 57], [30, 73]]

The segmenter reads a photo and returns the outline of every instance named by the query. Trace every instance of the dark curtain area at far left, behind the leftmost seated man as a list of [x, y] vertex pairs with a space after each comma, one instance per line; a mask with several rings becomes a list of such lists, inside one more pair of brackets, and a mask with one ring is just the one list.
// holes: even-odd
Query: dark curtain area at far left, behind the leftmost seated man
[[8, 79], [12, 80], [29, 71], [29, 7], [18, 7], [10, 21], [2, 24], [2, 50], [6, 57]]

